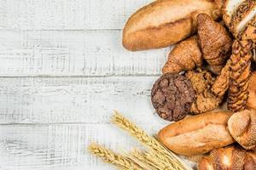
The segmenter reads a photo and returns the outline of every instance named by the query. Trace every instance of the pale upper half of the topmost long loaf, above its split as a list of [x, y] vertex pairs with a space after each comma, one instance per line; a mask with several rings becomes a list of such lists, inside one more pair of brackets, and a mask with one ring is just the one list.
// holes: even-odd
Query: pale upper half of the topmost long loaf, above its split
[[[150, 3], [132, 14], [127, 21], [126, 32], [143, 30], [148, 27], [158, 27], [162, 24], [172, 23], [189, 17], [189, 14], [200, 9], [216, 8], [216, 5], [209, 0], [159, 0]], [[182, 10], [181, 10], [182, 9]], [[199, 11], [198, 11], [199, 12]], [[212, 16], [212, 14], [210, 14]]]

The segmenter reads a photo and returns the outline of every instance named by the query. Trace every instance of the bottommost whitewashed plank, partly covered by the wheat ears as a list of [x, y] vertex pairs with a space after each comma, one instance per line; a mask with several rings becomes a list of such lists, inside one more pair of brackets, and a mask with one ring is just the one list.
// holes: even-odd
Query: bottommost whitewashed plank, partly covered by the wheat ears
[[[165, 124], [139, 124], [157, 133]], [[112, 150], [140, 147], [135, 139], [111, 124], [0, 126], [0, 169], [112, 169], [86, 147], [91, 142]]]

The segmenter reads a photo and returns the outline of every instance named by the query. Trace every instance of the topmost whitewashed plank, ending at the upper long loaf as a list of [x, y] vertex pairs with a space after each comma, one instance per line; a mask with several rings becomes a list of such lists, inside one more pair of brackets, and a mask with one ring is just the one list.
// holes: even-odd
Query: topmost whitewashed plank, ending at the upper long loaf
[[0, 0], [2, 30], [122, 29], [153, 0]]

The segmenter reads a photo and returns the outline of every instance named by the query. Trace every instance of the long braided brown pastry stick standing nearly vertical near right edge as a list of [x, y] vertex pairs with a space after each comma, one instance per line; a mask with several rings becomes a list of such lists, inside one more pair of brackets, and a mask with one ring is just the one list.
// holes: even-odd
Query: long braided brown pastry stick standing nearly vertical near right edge
[[228, 109], [243, 111], [248, 98], [248, 79], [251, 68], [251, 50], [253, 42], [249, 40], [235, 41], [230, 57], [230, 87]]

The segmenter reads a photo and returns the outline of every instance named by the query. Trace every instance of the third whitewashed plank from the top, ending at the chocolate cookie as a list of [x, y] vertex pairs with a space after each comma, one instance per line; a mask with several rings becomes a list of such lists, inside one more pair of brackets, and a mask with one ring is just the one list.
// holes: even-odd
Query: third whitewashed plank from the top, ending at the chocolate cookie
[[0, 123], [108, 123], [113, 110], [154, 124], [158, 77], [0, 78]]

